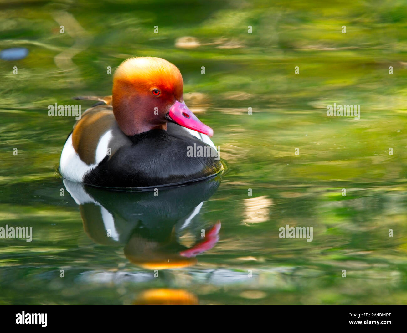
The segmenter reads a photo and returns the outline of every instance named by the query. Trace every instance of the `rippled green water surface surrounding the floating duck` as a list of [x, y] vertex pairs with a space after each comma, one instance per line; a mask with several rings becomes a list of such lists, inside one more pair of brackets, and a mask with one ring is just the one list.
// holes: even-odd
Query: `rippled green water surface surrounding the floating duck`
[[[0, 304], [133, 304], [163, 288], [199, 304], [407, 303], [405, 1], [7, 1], [0, 10], [0, 48], [30, 51], [0, 60], [0, 227], [33, 228], [31, 242], [0, 239]], [[214, 129], [228, 172], [210, 191], [184, 188], [168, 201], [164, 191], [158, 206], [151, 193], [88, 189], [114, 216], [114, 240], [101, 206], [79, 208], [55, 173], [74, 119], [47, 107], [111, 94], [107, 66], [130, 56], [179, 67], [186, 104]], [[360, 105], [360, 119], [328, 117], [333, 103]], [[146, 267], [179, 260], [217, 221], [219, 241], [195, 261], [158, 277]], [[280, 239], [287, 224], [312, 227], [313, 241]]]

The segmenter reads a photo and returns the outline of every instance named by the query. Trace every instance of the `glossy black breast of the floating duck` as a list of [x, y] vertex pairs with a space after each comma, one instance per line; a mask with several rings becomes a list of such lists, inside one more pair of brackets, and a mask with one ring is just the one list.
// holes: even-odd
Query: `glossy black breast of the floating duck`
[[153, 129], [130, 139], [132, 145], [106, 156], [83, 182], [105, 187], [160, 186], [191, 182], [222, 169], [212, 147], [195, 138]]

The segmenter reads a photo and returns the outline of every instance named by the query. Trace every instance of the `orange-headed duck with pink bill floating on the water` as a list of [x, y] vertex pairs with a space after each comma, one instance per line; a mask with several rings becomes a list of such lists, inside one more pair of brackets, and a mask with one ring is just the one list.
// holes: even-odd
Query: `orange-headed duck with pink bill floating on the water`
[[[179, 69], [158, 57], [131, 57], [113, 76], [112, 96], [74, 124], [61, 152], [64, 179], [107, 188], [156, 188], [223, 171], [213, 129], [186, 106]], [[188, 155], [192, 151], [208, 152]]]

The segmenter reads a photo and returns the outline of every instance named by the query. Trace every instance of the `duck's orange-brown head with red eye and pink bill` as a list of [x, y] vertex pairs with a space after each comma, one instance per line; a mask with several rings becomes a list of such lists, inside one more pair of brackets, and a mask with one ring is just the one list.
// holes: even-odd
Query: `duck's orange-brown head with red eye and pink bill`
[[179, 69], [162, 58], [123, 61], [113, 78], [113, 112], [120, 129], [133, 136], [172, 122], [212, 136], [213, 130], [185, 105], [183, 90]]

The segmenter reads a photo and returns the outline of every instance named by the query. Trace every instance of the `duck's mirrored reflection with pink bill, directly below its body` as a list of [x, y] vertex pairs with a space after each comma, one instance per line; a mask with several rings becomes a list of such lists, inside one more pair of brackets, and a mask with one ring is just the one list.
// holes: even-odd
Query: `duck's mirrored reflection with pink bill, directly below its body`
[[[83, 229], [102, 245], [124, 246], [126, 258], [146, 269], [192, 266], [219, 240], [221, 223], [199, 212], [220, 177], [157, 191], [119, 192], [63, 180], [79, 205]], [[185, 244], [185, 239], [191, 239]]]

